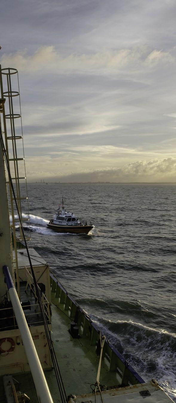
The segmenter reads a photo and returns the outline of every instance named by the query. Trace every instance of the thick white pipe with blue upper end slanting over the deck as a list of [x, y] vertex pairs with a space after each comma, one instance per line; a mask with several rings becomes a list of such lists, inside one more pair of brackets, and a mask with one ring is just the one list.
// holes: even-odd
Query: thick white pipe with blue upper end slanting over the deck
[[53, 403], [48, 384], [46, 382], [43, 369], [41, 367], [35, 345], [31, 333], [29, 332], [29, 327], [26, 322], [26, 318], [17, 294], [10, 272], [7, 266], [3, 267], [4, 275], [6, 278], [6, 284], [8, 287], [8, 292], [12, 302], [12, 307], [17, 320], [19, 331], [21, 333], [21, 338], [23, 340], [23, 345], [25, 347], [25, 353], [27, 355], [28, 363], [31, 369], [31, 374], [37, 391], [37, 395], [40, 403]]

